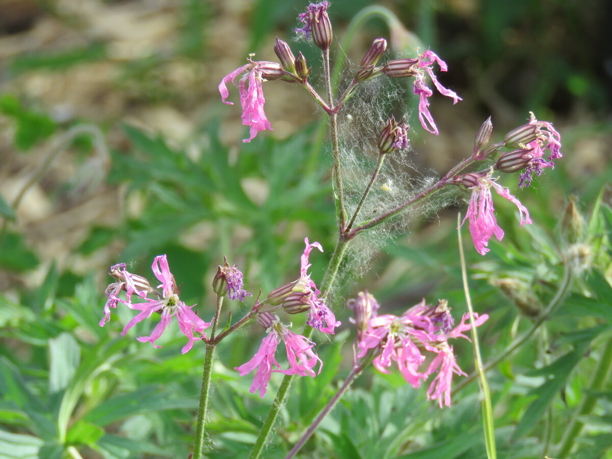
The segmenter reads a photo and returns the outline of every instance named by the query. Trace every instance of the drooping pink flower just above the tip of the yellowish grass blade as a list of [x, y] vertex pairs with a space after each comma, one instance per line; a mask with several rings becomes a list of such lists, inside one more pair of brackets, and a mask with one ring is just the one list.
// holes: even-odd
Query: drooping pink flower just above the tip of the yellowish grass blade
[[469, 232], [472, 235], [472, 241], [474, 241], [476, 252], [480, 253], [480, 255], [485, 255], [485, 253], [489, 251], [487, 246], [491, 236], [494, 235], [497, 237], [498, 241], [501, 241], [502, 237], [504, 237], [504, 231], [497, 224], [494, 215], [495, 209], [493, 207], [491, 188], [493, 188], [499, 196], [506, 198], [517, 206], [521, 226], [525, 223], [531, 225], [531, 218], [529, 218], [527, 207], [523, 206], [517, 198], [512, 196], [508, 188], [499, 185], [496, 179], [491, 177], [492, 173], [492, 170], [487, 174], [469, 173], [455, 177], [454, 179], [457, 184], [464, 185], [468, 190], [472, 191], [468, 204], [468, 211], [461, 225], [465, 223], [466, 218], [469, 218]]

